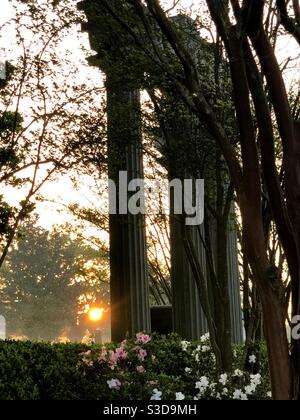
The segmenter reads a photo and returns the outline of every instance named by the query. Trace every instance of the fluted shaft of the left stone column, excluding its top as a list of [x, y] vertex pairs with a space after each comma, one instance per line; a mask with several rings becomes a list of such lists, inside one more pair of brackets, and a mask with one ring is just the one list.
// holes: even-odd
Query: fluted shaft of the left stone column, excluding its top
[[[107, 123], [108, 173], [118, 192], [120, 183], [127, 188], [130, 181], [143, 179], [140, 93], [110, 75]], [[120, 178], [121, 171], [127, 173], [127, 180]], [[118, 207], [119, 194], [117, 198]], [[114, 200], [112, 195], [110, 200]], [[144, 215], [110, 215], [110, 270], [112, 339], [121, 340], [126, 333], [150, 332]]]

